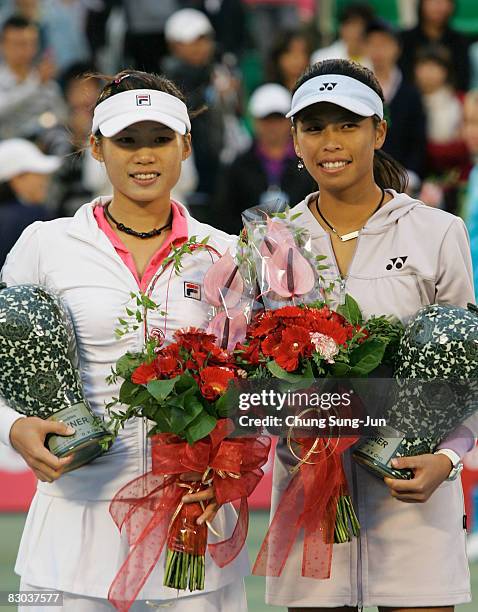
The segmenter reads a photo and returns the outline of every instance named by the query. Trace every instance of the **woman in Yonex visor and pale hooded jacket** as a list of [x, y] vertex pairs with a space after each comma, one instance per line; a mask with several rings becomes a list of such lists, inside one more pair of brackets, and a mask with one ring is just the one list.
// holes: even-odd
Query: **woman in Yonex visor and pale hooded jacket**
[[[365, 316], [391, 314], [406, 322], [421, 306], [474, 301], [468, 238], [461, 219], [413, 200], [405, 171], [382, 154], [387, 131], [383, 94], [372, 72], [347, 60], [313, 65], [292, 100], [299, 163], [317, 181], [292, 213], [324, 272], [341, 278]], [[404, 127], [404, 129], [406, 129]], [[453, 469], [473, 446], [464, 429], [438, 454], [399, 460], [409, 481], [367, 473], [344, 455], [361, 534], [333, 547], [331, 577], [301, 575], [302, 544], [294, 544], [282, 574], [267, 580], [267, 602], [289, 610], [350, 610], [377, 606], [395, 612], [453, 610], [470, 601], [461, 483]], [[274, 466], [274, 513], [294, 460], [280, 444]]]

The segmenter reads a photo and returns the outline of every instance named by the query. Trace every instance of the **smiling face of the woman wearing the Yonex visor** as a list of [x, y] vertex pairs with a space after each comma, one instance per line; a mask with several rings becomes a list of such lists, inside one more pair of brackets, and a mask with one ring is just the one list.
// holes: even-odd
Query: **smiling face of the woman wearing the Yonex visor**
[[373, 158], [385, 140], [387, 124], [320, 102], [294, 121], [296, 153], [321, 189], [342, 191], [373, 180]]

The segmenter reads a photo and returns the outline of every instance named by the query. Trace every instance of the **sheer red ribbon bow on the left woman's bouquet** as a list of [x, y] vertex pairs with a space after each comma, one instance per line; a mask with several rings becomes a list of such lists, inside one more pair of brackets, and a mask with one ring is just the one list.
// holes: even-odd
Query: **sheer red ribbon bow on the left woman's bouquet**
[[[247, 497], [263, 471], [270, 450], [270, 438], [225, 438], [233, 431], [229, 419], [220, 419], [214, 430], [193, 445], [174, 434], [159, 434], [152, 441], [152, 471], [132, 480], [115, 495], [110, 514], [120, 531], [126, 531], [131, 547], [108, 593], [112, 605], [126, 612], [158, 562], [168, 540], [171, 519], [184, 496], [180, 474], [204, 474], [212, 468], [212, 486], [219, 504], [241, 500], [239, 515], [230, 538], [209, 544], [211, 557], [219, 567], [231, 563], [247, 536]], [[238, 475], [231, 477], [228, 473]]]

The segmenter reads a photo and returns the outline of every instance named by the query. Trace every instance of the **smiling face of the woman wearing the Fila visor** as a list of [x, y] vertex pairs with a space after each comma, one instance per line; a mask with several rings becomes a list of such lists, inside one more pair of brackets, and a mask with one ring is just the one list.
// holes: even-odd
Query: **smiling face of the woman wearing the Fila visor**
[[93, 156], [105, 163], [115, 197], [141, 203], [169, 198], [191, 153], [190, 135], [155, 121], [141, 121], [111, 138], [92, 138]]

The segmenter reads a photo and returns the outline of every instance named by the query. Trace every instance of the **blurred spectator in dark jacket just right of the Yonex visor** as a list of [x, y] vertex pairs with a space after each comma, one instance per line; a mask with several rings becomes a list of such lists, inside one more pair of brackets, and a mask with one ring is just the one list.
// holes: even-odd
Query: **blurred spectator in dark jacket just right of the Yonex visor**
[[424, 176], [426, 154], [426, 118], [420, 92], [403, 78], [397, 66], [400, 37], [389, 23], [370, 23], [366, 50], [385, 96], [388, 130], [383, 150], [407, 169], [409, 190], [416, 192]]

